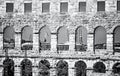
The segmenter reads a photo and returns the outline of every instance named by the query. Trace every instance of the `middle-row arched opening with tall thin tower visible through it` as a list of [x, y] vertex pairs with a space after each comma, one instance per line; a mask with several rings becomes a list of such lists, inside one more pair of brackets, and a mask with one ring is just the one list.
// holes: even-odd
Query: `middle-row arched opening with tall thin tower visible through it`
[[86, 51], [87, 49], [87, 29], [78, 27], [75, 31], [75, 49], [76, 51]]

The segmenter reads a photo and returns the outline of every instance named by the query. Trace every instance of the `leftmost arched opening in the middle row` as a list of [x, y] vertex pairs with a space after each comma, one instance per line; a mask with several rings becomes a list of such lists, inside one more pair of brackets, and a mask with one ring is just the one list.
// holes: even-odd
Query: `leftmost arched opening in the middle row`
[[3, 31], [3, 49], [14, 49], [15, 47], [15, 31], [12, 26], [7, 26]]

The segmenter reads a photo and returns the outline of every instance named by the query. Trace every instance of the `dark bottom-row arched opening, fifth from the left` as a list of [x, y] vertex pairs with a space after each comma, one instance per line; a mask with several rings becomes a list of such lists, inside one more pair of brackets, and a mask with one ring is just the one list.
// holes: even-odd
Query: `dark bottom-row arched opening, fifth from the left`
[[83, 61], [78, 61], [75, 63], [76, 76], [86, 76], [86, 64]]

